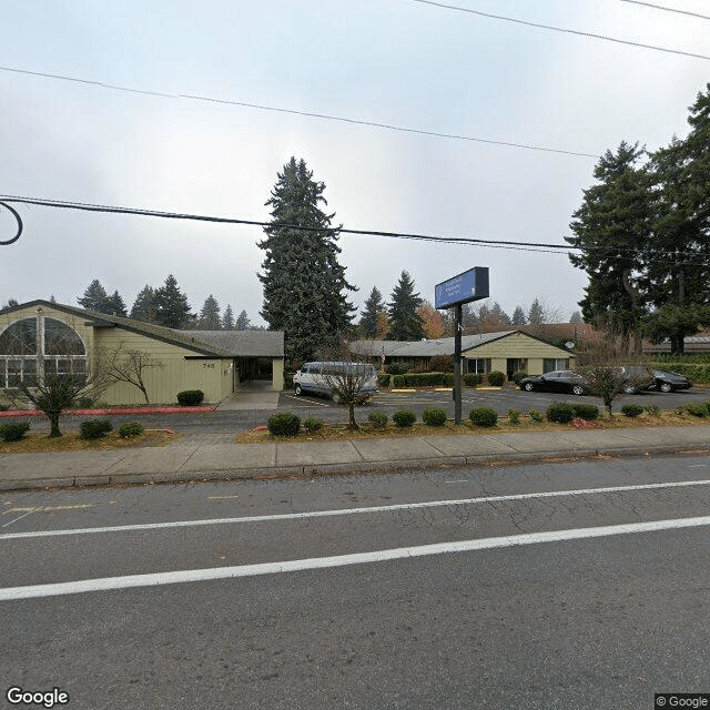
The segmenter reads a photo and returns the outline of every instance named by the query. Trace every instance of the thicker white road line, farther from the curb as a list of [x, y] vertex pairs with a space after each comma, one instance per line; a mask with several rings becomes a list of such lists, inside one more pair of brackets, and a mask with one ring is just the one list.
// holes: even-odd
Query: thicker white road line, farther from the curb
[[653, 520], [651, 523], [630, 523], [625, 525], [608, 525], [595, 528], [577, 528], [572, 530], [551, 530], [545, 532], [528, 532], [525, 535], [509, 535], [505, 537], [488, 537], [477, 540], [458, 540], [454, 542], [437, 542], [416, 547], [399, 547], [375, 552], [357, 552], [354, 555], [336, 555], [333, 557], [312, 557], [281, 562], [262, 562], [258, 565], [241, 565], [236, 567], [216, 567], [209, 569], [187, 569], [173, 572], [158, 572], [152, 575], [126, 575], [123, 577], [102, 577], [99, 579], [82, 579], [79, 581], [58, 582], [53, 585], [34, 585], [28, 587], [8, 587], [0, 589], [0, 601], [18, 599], [37, 599], [39, 597], [57, 597], [77, 595], [89, 591], [106, 591], [110, 589], [129, 589], [134, 587], [156, 587], [181, 582], [212, 581], [215, 579], [236, 579], [239, 577], [256, 577], [258, 575], [274, 575], [278, 572], [294, 572], [310, 569], [326, 569], [328, 567], [345, 567], [347, 565], [366, 565], [384, 562], [394, 559], [444, 555], [447, 552], [471, 552], [503, 547], [521, 545], [537, 545], [541, 542], [559, 542], [564, 540], [581, 540], [613, 535], [629, 535], [635, 532], [656, 532], [660, 530], [680, 530], [710, 525], [710, 516], [700, 518], [680, 518], [676, 520]]

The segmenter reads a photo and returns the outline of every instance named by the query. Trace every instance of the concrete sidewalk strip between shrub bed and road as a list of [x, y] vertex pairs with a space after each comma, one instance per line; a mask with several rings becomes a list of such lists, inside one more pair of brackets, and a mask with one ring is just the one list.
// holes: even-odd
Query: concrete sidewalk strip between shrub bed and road
[[710, 426], [417, 436], [357, 442], [181, 444], [0, 454], [0, 490], [465, 466], [596, 455], [710, 453]]

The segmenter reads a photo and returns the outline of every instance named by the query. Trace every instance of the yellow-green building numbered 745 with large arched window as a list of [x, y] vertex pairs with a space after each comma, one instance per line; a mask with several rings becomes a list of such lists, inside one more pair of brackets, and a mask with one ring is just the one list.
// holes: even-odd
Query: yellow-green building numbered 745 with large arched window
[[[50, 301], [0, 311], [0, 389], [44, 373], [91, 372], [113, 354], [140, 351], [154, 366], [144, 371], [152, 403], [173, 403], [179, 392], [202, 389], [220, 402], [246, 379], [271, 379], [283, 389], [284, 334], [278, 331], [176, 331]], [[142, 402], [124, 382], [101, 395], [106, 404]]]

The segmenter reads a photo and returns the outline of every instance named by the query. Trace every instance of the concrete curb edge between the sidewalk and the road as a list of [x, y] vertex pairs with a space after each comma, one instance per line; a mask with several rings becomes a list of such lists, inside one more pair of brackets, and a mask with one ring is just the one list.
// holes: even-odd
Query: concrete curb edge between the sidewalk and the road
[[710, 444], [693, 446], [681, 445], [653, 447], [617, 447], [597, 448], [580, 452], [549, 449], [546, 452], [500, 454], [497, 456], [445, 456], [439, 458], [415, 458], [403, 460], [361, 462], [357, 464], [307, 464], [298, 466], [276, 466], [255, 468], [215, 468], [190, 471], [153, 471], [123, 474], [119, 476], [91, 474], [85, 476], [60, 476], [33, 480], [2, 480], [0, 493], [37, 490], [49, 488], [83, 488], [93, 486], [138, 486], [187, 481], [224, 481], [224, 480], [268, 480], [288, 478], [313, 478], [315, 476], [354, 476], [358, 474], [386, 475], [405, 470], [446, 469], [457, 466], [515, 466], [530, 463], [562, 463], [588, 460], [599, 457], [633, 458], [653, 455], [710, 454]]

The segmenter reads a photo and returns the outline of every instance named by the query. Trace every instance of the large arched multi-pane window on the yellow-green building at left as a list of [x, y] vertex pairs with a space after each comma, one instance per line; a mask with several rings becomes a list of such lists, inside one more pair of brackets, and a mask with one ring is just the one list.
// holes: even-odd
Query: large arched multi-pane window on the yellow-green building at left
[[77, 331], [39, 314], [0, 333], [0, 388], [31, 386], [44, 374], [87, 374], [87, 348]]

